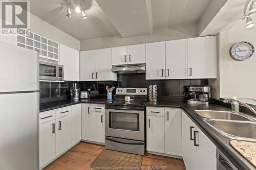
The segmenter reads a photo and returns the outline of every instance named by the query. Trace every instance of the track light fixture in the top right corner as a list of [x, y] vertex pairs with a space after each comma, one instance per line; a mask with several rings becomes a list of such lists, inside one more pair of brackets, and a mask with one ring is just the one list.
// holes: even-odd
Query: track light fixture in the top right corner
[[[245, 7], [244, 7], [244, 19], [246, 19], [246, 28], [251, 28], [255, 24], [252, 22], [252, 15], [256, 14], [256, 5], [255, 5], [256, 0], [248, 0]], [[248, 10], [249, 9], [249, 10]], [[248, 13], [247, 13], [248, 11]]]

